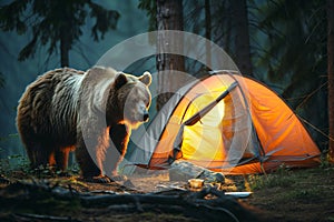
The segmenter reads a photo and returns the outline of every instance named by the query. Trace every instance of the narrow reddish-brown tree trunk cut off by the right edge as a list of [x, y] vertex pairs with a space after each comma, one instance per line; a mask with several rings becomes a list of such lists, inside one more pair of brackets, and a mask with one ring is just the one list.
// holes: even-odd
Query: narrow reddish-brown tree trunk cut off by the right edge
[[327, 0], [327, 59], [328, 59], [328, 125], [330, 157], [334, 161], [334, 0]]

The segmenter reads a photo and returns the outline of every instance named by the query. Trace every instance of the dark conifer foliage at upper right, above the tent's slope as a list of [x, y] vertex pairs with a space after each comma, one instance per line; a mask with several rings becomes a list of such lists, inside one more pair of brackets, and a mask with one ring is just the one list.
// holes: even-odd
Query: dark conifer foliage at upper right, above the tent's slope
[[324, 3], [275, 0], [255, 11], [262, 14], [256, 29], [265, 40], [257, 42], [262, 50], [255, 51], [256, 67], [266, 68], [271, 81], [285, 80], [284, 98], [313, 92], [322, 81], [320, 75], [326, 72]]

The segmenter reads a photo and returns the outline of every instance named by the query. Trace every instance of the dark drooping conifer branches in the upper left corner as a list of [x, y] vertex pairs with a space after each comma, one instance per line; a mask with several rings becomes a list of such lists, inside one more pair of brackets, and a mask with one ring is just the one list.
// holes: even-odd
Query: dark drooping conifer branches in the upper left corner
[[119, 13], [106, 10], [90, 0], [14, 0], [0, 9], [0, 28], [24, 34], [32, 31], [31, 41], [19, 53], [19, 60], [33, 57], [39, 46], [47, 46], [48, 53], [57, 52], [60, 41], [71, 49], [82, 36], [88, 14], [95, 20], [91, 36], [95, 41], [116, 29]]

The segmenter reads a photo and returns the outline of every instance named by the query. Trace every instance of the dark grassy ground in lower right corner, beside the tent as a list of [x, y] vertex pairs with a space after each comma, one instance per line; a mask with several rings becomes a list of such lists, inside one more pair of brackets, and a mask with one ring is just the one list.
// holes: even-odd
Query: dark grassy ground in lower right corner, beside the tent
[[[247, 178], [248, 203], [264, 210], [264, 221], [333, 221], [334, 167], [281, 169]], [[283, 216], [284, 215], [284, 216]]]

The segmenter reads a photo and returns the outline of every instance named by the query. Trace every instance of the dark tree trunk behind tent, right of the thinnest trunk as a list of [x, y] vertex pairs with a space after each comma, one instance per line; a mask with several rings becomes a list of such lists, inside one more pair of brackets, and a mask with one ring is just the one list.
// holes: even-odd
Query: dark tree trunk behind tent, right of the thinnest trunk
[[252, 75], [248, 12], [246, 0], [230, 0], [235, 26], [236, 63], [243, 74]]

